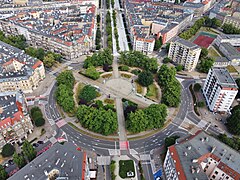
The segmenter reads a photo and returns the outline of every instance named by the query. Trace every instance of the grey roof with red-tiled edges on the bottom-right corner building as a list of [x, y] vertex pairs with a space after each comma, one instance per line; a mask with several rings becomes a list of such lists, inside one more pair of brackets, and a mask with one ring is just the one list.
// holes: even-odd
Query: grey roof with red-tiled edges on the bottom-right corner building
[[200, 168], [200, 164], [206, 163], [208, 157], [218, 161], [218, 168], [233, 179], [240, 178], [240, 154], [203, 131], [180, 139], [169, 150], [175, 157], [177, 171], [182, 169], [187, 179], [208, 179]]

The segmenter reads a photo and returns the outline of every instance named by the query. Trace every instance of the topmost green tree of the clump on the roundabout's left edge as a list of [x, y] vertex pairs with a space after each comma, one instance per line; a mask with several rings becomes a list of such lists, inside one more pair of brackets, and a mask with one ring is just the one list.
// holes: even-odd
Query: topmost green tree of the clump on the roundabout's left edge
[[65, 70], [61, 72], [57, 77], [57, 85], [64, 84], [69, 88], [73, 88], [75, 83], [75, 78], [72, 71]]

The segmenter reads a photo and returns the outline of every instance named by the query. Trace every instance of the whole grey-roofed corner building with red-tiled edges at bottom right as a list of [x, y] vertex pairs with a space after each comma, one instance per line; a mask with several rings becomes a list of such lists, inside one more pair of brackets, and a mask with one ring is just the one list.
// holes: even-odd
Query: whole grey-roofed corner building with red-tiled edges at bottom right
[[239, 180], [240, 154], [198, 131], [168, 148], [164, 170], [167, 180]]

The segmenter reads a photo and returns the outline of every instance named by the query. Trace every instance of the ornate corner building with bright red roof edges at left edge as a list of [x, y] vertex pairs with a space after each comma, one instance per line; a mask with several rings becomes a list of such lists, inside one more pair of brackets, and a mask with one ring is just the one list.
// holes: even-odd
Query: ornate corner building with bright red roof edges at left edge
[[21, 91], [0, 93], [0, 149], [6, 143], [21, 143], [32, 133], [33, 125]]

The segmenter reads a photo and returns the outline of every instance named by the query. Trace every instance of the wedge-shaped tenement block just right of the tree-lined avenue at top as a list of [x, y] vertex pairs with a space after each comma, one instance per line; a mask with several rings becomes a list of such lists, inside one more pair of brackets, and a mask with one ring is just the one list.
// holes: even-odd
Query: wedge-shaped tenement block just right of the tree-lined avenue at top
[[145, 53], [153, 51], [154, 36], [162, 36], [163, 43], [166, 43], [186, 27], [193, 17], [192, 13], [172, 3], [126, 0], [124, 5], [133, 49]]

